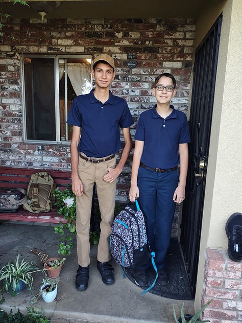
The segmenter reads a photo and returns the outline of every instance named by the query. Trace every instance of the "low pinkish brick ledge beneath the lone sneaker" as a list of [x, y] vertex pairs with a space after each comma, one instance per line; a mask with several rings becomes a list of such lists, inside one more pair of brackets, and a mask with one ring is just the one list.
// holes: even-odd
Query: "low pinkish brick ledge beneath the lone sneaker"
[[242, 262], [231, 261], [227, 251], [207, 248], [202, 303], [212, 302], [203, 319], [211, 323], [242, 322]]

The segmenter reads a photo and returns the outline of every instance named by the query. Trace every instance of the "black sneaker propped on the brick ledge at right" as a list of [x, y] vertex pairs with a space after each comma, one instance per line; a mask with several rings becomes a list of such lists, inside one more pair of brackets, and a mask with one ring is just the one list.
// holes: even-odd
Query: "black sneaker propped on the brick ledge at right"
[[228, 237], [228, 255], [233, 261], [242, 260], [242, 214], [232, 214], [225, 226]]

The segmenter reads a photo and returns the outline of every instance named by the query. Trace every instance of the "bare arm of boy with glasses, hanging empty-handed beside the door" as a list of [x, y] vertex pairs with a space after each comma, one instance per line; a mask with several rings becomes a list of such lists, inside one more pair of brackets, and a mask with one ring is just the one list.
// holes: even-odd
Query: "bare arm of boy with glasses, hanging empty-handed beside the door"
[[173, 200], [176, 203], [181, 203], [185, 199], [186, 176], [187, 176], [187, 168], [188, 168], [188, 145], [187, 144], [179, 144], [179, 155], [180, 155], [180, 181], [173, 196]]

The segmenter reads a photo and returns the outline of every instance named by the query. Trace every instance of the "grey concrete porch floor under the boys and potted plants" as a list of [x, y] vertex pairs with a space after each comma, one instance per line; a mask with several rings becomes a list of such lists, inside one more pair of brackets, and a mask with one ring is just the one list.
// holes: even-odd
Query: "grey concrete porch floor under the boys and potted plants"
[[[50, 257], [58, 257], [59, 236], [54, 234], [53, 225], [33, 225], [0, 222], [0, 268], [8, 260], [14, 261], [19, 253], [20, 258], [34, 261], [41, 267], [37, 256], [30, 249], [39, 248]], [[142, 289], [123, 279], [122, 267], [111, 261], [114, 266], [115, 283], [106, 286], [96, 269], [96, 246], [91, 248], [90, 278], [88, 289], [84, 292], [75, 288], [75, 275], [78, 268], [76, 247], [70, 256], [63, 256], [63, 264], [58, 284], [58, 293], [54, 302], [45, 303], [42, 298], [34, 304], [35, 308], [43, 308], [51, 323], [174, 323], [172, 304], [177, 317], [183, 301], [163, 298], [151, 293], [141, 295]], [[34, 274], [33, 291], [23, 290], [16, 296], [4, 293], [5, 302], [0, 308], [9, 312], [18, 308], [22, 313], [31, 307], [30, 299], [37, 294], [41, 286], [42, 273]], [[0, 283], [0, 286], [1, 283]], [[185, 301], [184, 312], [193, 314], [193, 301]], [[1, 322], [2, 323], [2, 322]]]

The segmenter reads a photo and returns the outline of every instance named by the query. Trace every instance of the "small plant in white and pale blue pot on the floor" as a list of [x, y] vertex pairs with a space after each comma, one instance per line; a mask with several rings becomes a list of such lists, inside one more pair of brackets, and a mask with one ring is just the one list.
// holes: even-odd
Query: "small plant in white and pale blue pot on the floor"
[[31, 298], [30, 303], [35, 304], [40, 296], [46, 303], [53, 302], [57, 295], [57, 286], [59, 281], [59, 278], [56, 280], [52, 279], [51, 277], [44, 278], [43, 284], [41, 285], [38, 293]]

